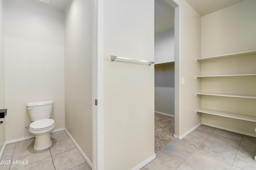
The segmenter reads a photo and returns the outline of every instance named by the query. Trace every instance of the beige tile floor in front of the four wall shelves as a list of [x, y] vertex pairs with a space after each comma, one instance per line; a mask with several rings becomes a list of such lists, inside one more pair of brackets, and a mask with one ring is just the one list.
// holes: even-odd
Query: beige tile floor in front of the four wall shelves
[[201, 125], [141, 170], [256, 170], [256, 138]]

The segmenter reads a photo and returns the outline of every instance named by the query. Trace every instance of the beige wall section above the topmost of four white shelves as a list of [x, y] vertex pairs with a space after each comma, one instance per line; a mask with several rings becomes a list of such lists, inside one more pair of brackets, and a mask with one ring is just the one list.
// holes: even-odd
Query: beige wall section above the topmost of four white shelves
[[255, 0], [203, 16], [202, 57], [255, 50], [255, 16]]

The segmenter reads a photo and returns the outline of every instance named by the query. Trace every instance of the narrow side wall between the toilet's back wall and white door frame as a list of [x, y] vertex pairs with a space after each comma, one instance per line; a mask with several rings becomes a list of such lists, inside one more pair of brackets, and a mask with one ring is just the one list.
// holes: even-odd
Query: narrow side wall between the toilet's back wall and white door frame
[[65, 127], [92, 164], [92, 1], [65, 12]]

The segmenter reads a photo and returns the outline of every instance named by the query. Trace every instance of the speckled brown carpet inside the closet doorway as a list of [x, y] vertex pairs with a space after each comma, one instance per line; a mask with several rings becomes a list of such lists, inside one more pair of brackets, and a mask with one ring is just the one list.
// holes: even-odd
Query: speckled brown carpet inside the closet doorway
[[174, 117], [155, 113], [155, 152], [172, 142], [174, 134]]

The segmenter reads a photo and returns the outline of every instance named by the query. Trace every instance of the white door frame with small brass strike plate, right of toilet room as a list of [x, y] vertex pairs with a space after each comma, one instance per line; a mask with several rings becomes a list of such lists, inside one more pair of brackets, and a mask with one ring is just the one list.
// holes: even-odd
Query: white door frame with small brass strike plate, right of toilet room
[[103, 170], [103, 0], [94, 0], [92, 8], [92, 169]]

